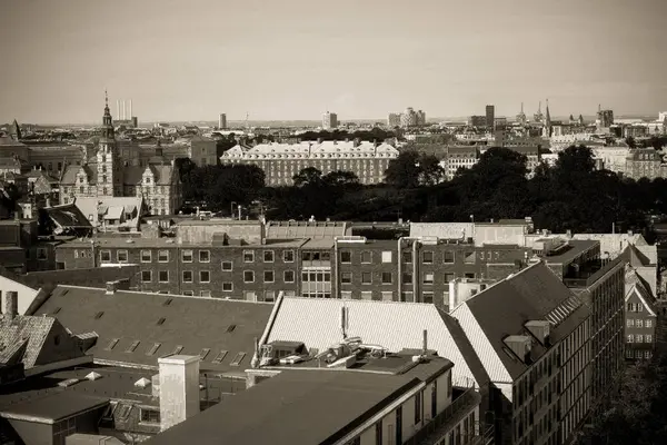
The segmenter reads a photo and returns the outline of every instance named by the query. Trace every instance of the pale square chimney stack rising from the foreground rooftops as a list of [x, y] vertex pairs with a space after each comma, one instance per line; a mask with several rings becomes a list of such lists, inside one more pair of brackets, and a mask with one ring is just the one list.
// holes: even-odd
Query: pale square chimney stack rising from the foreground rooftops
[[160, 429], [199, 413], [199, 356], [158, 358], [160, 366]]

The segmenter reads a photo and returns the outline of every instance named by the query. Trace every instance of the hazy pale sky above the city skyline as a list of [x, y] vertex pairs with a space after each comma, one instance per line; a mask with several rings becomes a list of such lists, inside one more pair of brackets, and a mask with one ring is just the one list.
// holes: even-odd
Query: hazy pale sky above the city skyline
[[0, 122], [667, 109], [667, 0], [0, 3]]

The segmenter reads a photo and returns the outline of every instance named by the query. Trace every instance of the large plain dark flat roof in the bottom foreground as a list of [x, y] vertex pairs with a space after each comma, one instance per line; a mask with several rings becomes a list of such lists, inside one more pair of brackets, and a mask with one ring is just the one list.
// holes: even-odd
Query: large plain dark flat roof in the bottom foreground
[[[450, 362], [434, 359], [430, 364], [434, 367], [428, 370], [435, 372], [439, 366], [449, 366]], [[426, 369], [429, 364], [424, 366]], [[192, 437], [197, 437], [200, 445], [334, 443], [361, 425], [369, 415], [419, 385], [420, 377], [414, 373], [285, 370], [146, 444], [183, 444]]]

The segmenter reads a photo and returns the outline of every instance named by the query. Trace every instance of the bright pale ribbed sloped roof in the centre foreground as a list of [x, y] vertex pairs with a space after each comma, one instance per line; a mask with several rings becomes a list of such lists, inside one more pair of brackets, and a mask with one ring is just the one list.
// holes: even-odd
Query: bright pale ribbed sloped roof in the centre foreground
[[307, 348], [323, 350], [342, 340], [340, 312], [345, 306], [349, 314], [350, 337], [361, 337], [364, 343], [381, 345], [397, 353], [421, 349], [426, 329], [428, 348], [454, 363], [455, 385], [467, 386], [470, 379], [479, 376], [471, 372], [461, 352], [467, 345], [456, 342], [459, 333], [452, 335], [451, 324], [445, 323], [444, 318], [449, 316], [434, 305], [301, 297], [283, 297], [276, 305], [276, 317], [266, 343], [302, 342]]

